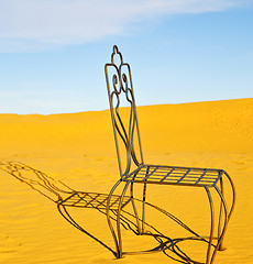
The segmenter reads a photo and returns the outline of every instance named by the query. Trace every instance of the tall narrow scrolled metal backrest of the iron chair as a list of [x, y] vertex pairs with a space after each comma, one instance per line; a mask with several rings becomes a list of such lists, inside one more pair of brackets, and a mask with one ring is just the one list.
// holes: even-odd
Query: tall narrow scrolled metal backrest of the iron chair
[[133, 166], [143, 164], [143, 155], [131, 69], [116, 45], [105, 70], [120, 176], [123, 177]]

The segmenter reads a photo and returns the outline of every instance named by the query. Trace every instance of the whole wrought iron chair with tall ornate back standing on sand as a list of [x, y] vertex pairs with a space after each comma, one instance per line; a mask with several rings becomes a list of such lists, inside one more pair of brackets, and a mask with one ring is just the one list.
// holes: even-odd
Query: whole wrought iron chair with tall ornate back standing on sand
[[[222, 250], [222, 240], [234, 208], [235, 190], [231, 177], [223, 169], [164, 166], [144, 163], [138, 123], [136, 106], [133, 94], [131, 69], [130, 65], [123, 62], [122, 54], [119, 52], [116, 45], [113, 46], [113, 52], [111, 54], [111, 63], [106, 64], [105, 70], [120, 169], [120, 179], [112, 187], [107, 204], [107, 218], [116, 244], [117, 257], [120, 258], [124, 254], [131, 254], [130, 252], [123, 252], [122, 250], [122, 238], [120, 230], [121, 209], [128, 188], [130, 187], [130, 197], [132, 200], [131, 204], [138, 222], [138, 233], [150, 235], [150, 233], [146, 233], [144, 230], [147, 185], [176, 185], [185, 187], [202, 187], [206, 190], [211, 212], [210, 234], [208, 237], [196, 237], [196, 239], [208, 243], [205, 263], [213, 263], [217, 251]], [[122, 100], [124, 101], [124, 103], [122, 103]], [[127, 106], [128, 108], [124, 108]], [[125, 118], [127, 122], [124, 122]], [[232, 190], [232, 200], [230, 208], [228, 208], [227, 201], [223, 196], [224, 177], [228, 178], [227, 182], [230, 184]], [[118, 206], [117, 228], [114, 230], [110, 218], [110, 200], [120, 184], [123, 184], [123, 190], [121, 193], [121, 200]], [[134, 184], [143, 185], [142, 218], [139, 218], [133, 199]], [[213, 188], [220, 197], [220, 212], [218, 221], [219, 227], [217, 237], [215, 237], [213, 234], [215, 207], [210, 193], [211, 188]], [[217, 240], [217, 243], [213, 242], [215, 240]], [[211, 250], [212, 248], [213, 250]], [[156, 250], [150, 250], [147, 252], [155, 252], [158, 250], [164, 251], [165, 248], [161, 246], [160, 249], [156, 248]], [[186, 255], [182, 255], [182, 258], [184, 258], [186, 263], [199, 263], [193, 261]]]

